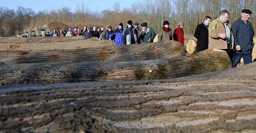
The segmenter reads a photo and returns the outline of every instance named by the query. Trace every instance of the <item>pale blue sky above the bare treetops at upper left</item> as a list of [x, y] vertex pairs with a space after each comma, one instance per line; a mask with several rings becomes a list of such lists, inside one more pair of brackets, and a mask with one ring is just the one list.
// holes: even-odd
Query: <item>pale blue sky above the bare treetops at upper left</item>
[[113, 10], [113, 5], [115, 2], [120, 4], [120, 9], [130, 8], [132, 3], [142, 2], [142, 0], [0, 0], [0, 6], [5, 6], [9, 9], [16, 10], [18, 6], [24, 8], [31, 8], [34, 12], [38, 13], [40, 10], [47, 9], [58, 10], [63, 7], [69, 7], [72, 12], [76, 10], [77, 5], [84, 4], [85, 7], [89, 7], [92, 12], [103, 10]]

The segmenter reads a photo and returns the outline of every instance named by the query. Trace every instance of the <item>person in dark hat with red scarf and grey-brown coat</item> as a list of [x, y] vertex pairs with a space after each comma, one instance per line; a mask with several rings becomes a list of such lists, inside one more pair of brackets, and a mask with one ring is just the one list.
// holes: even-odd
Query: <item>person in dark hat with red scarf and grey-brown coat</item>
[[172, 40], [172, 30], [169, 28], [169, 21], [164, 21], [163, 28], [158, 32], [159, 40]]

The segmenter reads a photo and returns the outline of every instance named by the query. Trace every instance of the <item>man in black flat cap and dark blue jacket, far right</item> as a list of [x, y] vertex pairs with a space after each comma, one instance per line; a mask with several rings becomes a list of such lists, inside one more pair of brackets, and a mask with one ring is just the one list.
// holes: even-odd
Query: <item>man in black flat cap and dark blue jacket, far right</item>
[[242, 17], [232, 24], [231, 29], [234, 34], [235, 52], [233, 57], [233, 67], [243, 58], [244, 64], [252, 63], [252, 49], [254, 47], [254, 30], [248, 21], [252, 12], [248, 9], [242, 10]]

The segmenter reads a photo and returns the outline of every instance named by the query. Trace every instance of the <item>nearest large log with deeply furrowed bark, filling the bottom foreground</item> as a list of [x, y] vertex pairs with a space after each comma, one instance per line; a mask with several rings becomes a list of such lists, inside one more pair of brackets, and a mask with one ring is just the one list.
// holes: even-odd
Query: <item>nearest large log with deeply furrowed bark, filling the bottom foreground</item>
[[2, 85], [0, 132], [255, 132], [256, 64], [206, 75]]

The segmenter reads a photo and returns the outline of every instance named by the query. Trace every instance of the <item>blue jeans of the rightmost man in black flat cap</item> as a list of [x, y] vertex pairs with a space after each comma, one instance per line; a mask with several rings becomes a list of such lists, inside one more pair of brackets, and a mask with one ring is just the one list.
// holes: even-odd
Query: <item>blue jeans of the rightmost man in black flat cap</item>
[[233, 67], [236, 67], [238, 62], [243, 58], [244, 60], [244, 65], [252, 63], [252, 54], [238, 54], [234, 52], [234, 57], [233, 57]]

